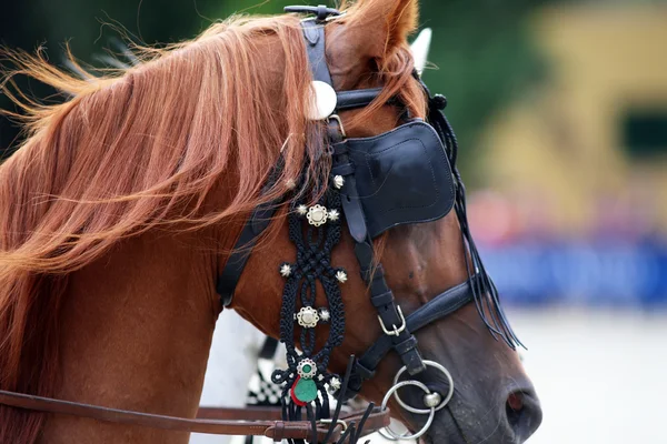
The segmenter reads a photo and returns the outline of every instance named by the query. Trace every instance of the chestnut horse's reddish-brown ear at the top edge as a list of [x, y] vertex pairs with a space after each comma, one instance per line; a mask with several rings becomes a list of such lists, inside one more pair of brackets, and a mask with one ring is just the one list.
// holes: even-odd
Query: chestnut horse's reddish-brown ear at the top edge
[[366, 57], [384, 59], [417, 29], [418, 0], [358, 0], [347, 10], [345, 39]]

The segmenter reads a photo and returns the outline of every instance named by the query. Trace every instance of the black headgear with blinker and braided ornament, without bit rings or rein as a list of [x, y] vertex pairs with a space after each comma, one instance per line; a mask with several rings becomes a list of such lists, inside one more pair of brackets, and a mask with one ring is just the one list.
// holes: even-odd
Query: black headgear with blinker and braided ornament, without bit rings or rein
[[[328, 17], [338, 12], [323, 7], [291, 7], [287, 11], [317, 13], [317, 18], [302, 21], [310, 69], [313, 80], [332, 87], [325, 57], [325, 24]], [[272, 377], [273, 382], [285, 384], [286, 420], [300, 418], [301, 407], [306, 407], [309, 418], [329, 417], [327, 390], [338, 392], [339, 400], [354, 396], [364, 381], [374, 377], [390, 350], [399, 354], [410, 375], [424, 372], [426, 365], [414, 333], [470, 302], [476, 304], [496, 339], [502, 339], [512, 349], [520, 345], [470, 235], [465, 188], [456, 169], [457, 142], [441, 112], [447, 102], [441, 95], [431, 97], [426, 85], [424, 91], [428, 97], [427, 122], [412, 119], [374, 138], [347, 139], [339, 120], [329, 119], [321, 155], [331, 155], [330, 184], [323, 192], [313, 190], [312, 195], [318, 198], [310, 201], [310, 206], [297, 202], [302, 196], [290, 198], [289, 232], [297, 246], [297, 260], [283, 263], [280, 269], [286, 278], [280, 340], [287, 345], [288, 369], [276, 371]], [[336, 112], [366, 107], [380, 92], [381, 89], [338, 91]], [[281, 161], [266, 188], [275, 185], [280, 171]], [[232, 300], [252, 245], [282, 203], [258, 206], [243, 226], [217, 284], [225, 306]], [[385, 280], [381, 264], [375, 261], [372, 239], [392, 226], [438, 220], [452, 209], [471, 259], [469, 279], [405, 316]], [[321, 224], [312, 223], [322, 219]], [[361, 276], [368, 284], [370, 301], [378, 311], [385, 334], [361, 357], [352, 361], [340, 386], [338, 376], [328, 374], [326, 367], [331, 349], [340, 345], [345, 332], [339, 285], [345, 284], [347, 274], [330, 263], [344, 219], [355, 240]], [[315, 306], [317, 285], [325, 289], [326, 307]], [[298, 305], [301, 307], [297, 309]], [[295, 323], [302, 326], [298, 347], [293, 343]], [[326, 345], [316, 350], [315, 327], [322, 323], [329, 324], [329, 336]], [[313, 391], [317, 392], [315, 397]]]

